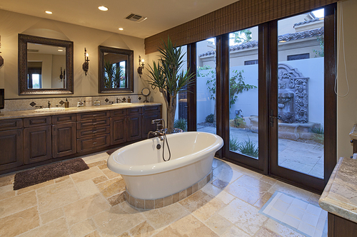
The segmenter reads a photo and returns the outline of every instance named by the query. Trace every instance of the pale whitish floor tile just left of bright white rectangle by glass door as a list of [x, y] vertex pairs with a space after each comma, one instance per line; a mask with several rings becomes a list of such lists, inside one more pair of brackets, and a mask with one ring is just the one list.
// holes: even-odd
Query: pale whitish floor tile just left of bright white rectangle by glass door
[[258, 214], [258, 211], [256, 207], [240, 199], [234, 199], [218, 214], [239, 226], [246, 233], [253, 235], [263, 225], [263, 222], [268, 219], [266, 216]]

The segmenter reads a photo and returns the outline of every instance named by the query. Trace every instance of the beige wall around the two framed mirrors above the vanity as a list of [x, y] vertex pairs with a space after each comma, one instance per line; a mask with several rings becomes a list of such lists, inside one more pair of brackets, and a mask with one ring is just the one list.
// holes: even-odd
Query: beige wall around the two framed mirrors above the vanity
[[[41, 19], [35, 16], [16, 14], [0, 10], [1, 56], [4, 65], [0, 68], [0, 88], [5, 88], [5, 99], [35, 98], [36, 96], [18, 95], [17, 51], [18, 34], [24, 33], [46, 38], [58, 38], [74, 42], [74, 95], [95, 96], [98, 93], [98, 46], [131, 49], [134, 51], [134, 93], [140, 93], [147, 83], [139, 78], [139, 55], [145, 58], [144, 39], [124, 36], [119, 33], [100, 31], [94, 28], [76, 26], [60, 21]], [[89, 53], [89, 72], [86, 76], [82, 69], [84, 48]], [[60, 95], [37, 95], [37, 97], [59, 97]], [[68, 97], [68, 95], [66, 95]]]

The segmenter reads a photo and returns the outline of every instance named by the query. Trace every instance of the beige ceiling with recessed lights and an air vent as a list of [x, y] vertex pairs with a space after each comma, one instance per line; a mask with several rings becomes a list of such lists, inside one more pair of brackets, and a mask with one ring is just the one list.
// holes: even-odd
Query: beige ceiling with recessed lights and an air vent
[[[147, 38], [191, 21], [237, 0], [0, 0], [0, 9], [128, 36]], [[108, 11], [99, 11], [106, 6]], [[52, 11], [46, 14], [44, 11]], [[129, 14], [148, 19], [141, 23], [125, 19]], [[124, 28], [119, 31], [118, 28]]]

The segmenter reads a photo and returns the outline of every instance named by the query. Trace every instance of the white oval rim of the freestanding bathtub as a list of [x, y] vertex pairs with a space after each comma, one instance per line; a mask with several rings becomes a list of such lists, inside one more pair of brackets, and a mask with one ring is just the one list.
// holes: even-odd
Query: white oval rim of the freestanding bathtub
[[135, 149], [135, 147], [139, 147], [140, 144], [146, 143], [146, 142], [151, 142], [153, 139], [159, 139], [159, 138], [151, 138], [151, 139], [145, 139], [140, 142], [135, 142], [134, 144], [129, 144], [125, 147], [121, 147], [120, 149], [117, 149], [115, 152], [113, 152], [109, 158], [107, 165], [109, 169], [113, 172], [116, 172], [118, 174], [123, 174], [126, 176], [142, 176], [142, 175], [149, 175], [149, 174], [158, 174], [162, 172], [168, 172], [172, 169], [178, 169], [180, 167], [184, 167], [188, 164], [193, 164], [197, 162], [200, 159], [203, 159], [203, 157], [206, 157], [207, 154], [216, 153], [218, 149], [221, 149], [223, 147], [223, 139], [219, 137], [218, 135], [214, 135], [213, 133], [209, 132], [183, 132], [183, 133], [176, 133], [176, 134], [171, 134], [167, 135], [169, 136], [182, 136], [182, 135], [187, 135], [189, 133], [196, 133], [196, 134], [205, 134], [205, 135], [210, 135], [212, 137], [216, 138], [216, 141], [211, 144], [210, 146], [201, 149], [198, 152], [188, 154], [186, 156], [180, 157], [178, 159], [173, 159], [168, 162], [161, 162], [161, 163], [154, 163], [154, 164], [139, 164], [139, 165], [130, 165], [130, 164], [121, 164], [116, 161], [114, 158], [116, 154], [119, 154], [122, 152], [124, 149]]

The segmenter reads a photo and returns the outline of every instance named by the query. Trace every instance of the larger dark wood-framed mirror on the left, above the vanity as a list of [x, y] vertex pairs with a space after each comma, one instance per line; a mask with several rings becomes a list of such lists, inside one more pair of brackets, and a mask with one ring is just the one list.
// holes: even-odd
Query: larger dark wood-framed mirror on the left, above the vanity
[[19, 95], [73, 94], [73, 42], [19, 33]]

